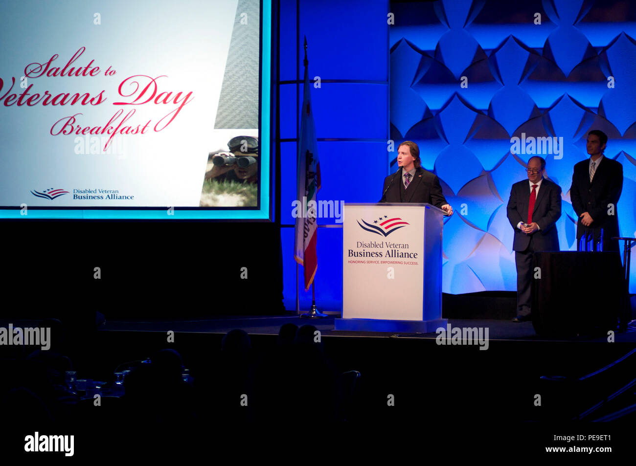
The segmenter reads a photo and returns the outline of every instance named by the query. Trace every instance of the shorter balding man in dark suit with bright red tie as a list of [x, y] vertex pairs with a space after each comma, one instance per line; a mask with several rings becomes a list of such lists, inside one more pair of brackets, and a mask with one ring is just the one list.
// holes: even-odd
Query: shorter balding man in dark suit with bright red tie
[[517, 269], [517, 316], [513, 322], [531, 319], [532, 254], [559, 250], [555, 223], [561, 216], [561, 188], [543, 177], [545, 170], [543, 157], [531, 157], [526, 168], [528, 179], [513, 184], [508, 200]]

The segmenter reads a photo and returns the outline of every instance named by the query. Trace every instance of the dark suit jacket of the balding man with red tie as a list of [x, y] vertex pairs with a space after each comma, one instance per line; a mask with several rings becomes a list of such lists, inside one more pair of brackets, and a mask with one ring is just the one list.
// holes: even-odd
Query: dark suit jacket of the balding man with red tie
[[534, 250], [559, 250], [555, 223], [561, 216], [560, 186], [549, 179], [543, 179], [534, 203], [534, 210], [532, 210], [532, 221], [539, 225], [539, 230], [526, 235], [516, 226], [519, 222], [528, 221], [529, 206], [530, 184], [525, 179], [513, 184], [508, 200], [508, 220], [515, 229], [513, 250], [519, 252], [526, 250], [530, 245], [530, 237], [534, 241]]

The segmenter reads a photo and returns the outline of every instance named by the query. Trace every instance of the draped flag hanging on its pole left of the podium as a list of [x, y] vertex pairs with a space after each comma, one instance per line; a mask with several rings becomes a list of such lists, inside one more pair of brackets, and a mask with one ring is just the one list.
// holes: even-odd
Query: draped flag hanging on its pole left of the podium
[[296, 217], [296, 240], [294, 242], [294, 259], [303, 266], [305, 272], [305, 291], [314, 282], [318, 267], [316, 257], [317, 202], [316, 193], [321, 188], [320, 161], [314, 113], [310, 103], [311, 83], [307, 74], [307, 38], [305, 38], [305, 88], [303, 106], [300, 114], [300, 139], [298, 140], [298, 168], [296, 181], [298, 200], [301, 203], [299, 215]]

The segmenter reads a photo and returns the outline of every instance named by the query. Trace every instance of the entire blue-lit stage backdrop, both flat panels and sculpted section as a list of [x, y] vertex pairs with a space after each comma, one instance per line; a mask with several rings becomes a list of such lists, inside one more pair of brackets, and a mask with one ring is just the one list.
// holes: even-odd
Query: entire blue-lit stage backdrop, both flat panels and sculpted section
[[[443, 291], [516, 289], [506, 204], [525, 177], [527, 154], [510, 138], [563, 137], [546, 156], [563, 189], [557, 224], [575, 249], [569, 189], [585, 135], [609, 135], [605, 154], [623, 164], [621, 234], [636, 230], [636, 4], [633, 1], [280, 0], [280, 212], [284, 298], [296, 305], [294, 218], [303, 38], [321, 160], [319, 200], [377, 202], [396, 170], [387, 140], [416, 140], [424, 168], [439, 175], [455, 209], [444, 229]], [[394, 24], [387, 24], [392, 13]], [[534, 24], [535, 13], [541, 24]], [[460, 87], [466, 76], [467, 88]], [[613, 76], [615, 87], [607, 87]], [[390, 113], [390, 121], [389, 121]], [[397, 147], [396, 147], [397, 148]], [[462, 208], [462, 204], [465, 208]], [[342, 308], [342, 230], [319, 218], [316, 301]], [[631, 291], [636, 292], [636, 267]], [[302, 277], [302, 270], [300, 271]], [[311, 292], [299, 289], [300, 306]]]

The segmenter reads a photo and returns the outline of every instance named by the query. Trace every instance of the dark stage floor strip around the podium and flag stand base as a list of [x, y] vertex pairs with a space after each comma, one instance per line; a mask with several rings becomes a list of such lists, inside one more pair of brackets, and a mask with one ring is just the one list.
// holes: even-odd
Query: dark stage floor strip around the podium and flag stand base
[[[355, 332], [335, 331], [334, 317], [322, 319], [305, 319], [296, 315], [282, 315], [277, 317], [263, 316], [227, 316], [214, 319], [190, 319], [190, 320], [107, 320], [99, 327], [100, 331], [144, 331], [144, 332], [195, 332], [225, 334], [233, 329], [242, 329], [249, 334], [277, 335], [280, 326], [293, 323], [297, 326], [311, 324], [315, 326], [323, 336], [331, 337], [365, 337], [365, 338], [420, 338], [435, 339], [435, 332], [429, 333], [396, 333], [396, 332]], [[516, 323], [511, 320], [495, 319], [448, 319], [451, 327], [487, 327], [490, 340], [522, 340], [522, 341], [598, 341], [607, 342], [607, 337], [590, 338], [578, 336], [572, 338], [548, 338], [536, 334], [532, 322]], [[636, 332], [616, 333], [617, 342], [636, 343]]]

